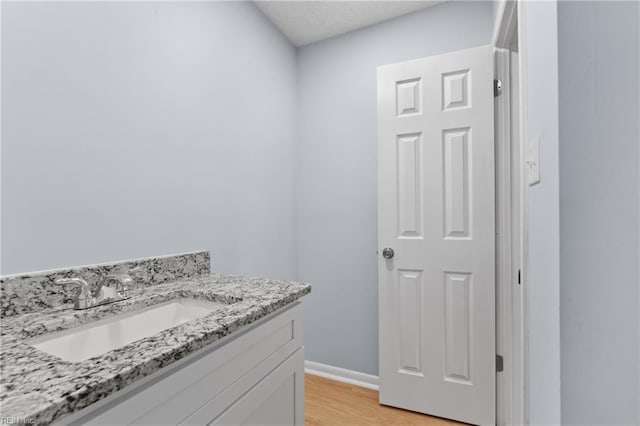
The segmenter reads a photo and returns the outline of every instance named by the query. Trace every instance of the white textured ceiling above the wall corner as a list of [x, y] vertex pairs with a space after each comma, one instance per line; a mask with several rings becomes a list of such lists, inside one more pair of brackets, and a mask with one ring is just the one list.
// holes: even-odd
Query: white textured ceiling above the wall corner
[[255, 3], [293, 44], [304, 46], [442, 1], [291, 0]]

